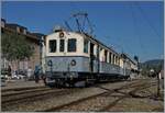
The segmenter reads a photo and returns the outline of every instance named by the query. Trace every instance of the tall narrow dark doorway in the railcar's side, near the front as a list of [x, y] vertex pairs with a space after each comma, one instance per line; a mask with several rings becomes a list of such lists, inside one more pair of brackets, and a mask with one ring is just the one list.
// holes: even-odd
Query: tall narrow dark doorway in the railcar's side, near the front
[[94, 55], [94, 46], [95, 44], [90, 43], [90, 72], [94, 72], [94, 60], [95, 60], [95, 55]]

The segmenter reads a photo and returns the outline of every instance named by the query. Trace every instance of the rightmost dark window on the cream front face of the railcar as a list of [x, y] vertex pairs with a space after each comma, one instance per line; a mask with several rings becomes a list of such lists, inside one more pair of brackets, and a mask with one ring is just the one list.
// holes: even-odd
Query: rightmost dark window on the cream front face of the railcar
[[76, 52], [76, 38], [69, 38], [68, 39], [67, 50], [68, 52]]

